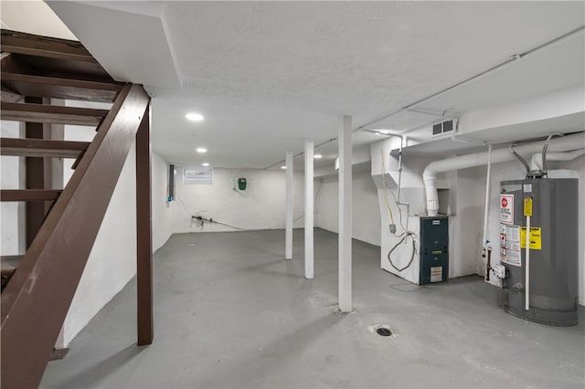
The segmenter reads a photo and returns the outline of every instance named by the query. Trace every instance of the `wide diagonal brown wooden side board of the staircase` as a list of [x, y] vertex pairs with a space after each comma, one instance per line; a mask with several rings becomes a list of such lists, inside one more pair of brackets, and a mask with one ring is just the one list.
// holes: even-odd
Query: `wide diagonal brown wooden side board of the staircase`
[[3, 291], [3, 389], [40, 383], [148, 102], [122, 88]]

